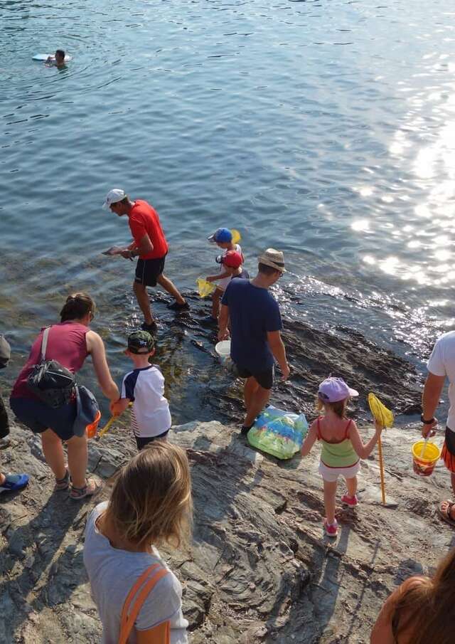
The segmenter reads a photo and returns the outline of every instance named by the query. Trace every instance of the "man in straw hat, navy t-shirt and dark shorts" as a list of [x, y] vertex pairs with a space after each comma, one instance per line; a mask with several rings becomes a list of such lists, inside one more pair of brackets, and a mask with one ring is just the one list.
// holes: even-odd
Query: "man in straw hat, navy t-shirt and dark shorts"
[[221, 300], [220, 340], [229, 337], [230, 357], [240, 378], [245, 378], [243, 396], [247, 413], [242, 425], [246, 434], [254, 425], [270, 397], [274, 378], [274, 359], [282, 371], [282, 379], [289, 376], [286, 351], [280, 331], [282, 317], [277, 301], [269, 292], [285, 272], [283, 253], [267, 248], [258, 258], [258, 273], [253, 280], [232, 280]]

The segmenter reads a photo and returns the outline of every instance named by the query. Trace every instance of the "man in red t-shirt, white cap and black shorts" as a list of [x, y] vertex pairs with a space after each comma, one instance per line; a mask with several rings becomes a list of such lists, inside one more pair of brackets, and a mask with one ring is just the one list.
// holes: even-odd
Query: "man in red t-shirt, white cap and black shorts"
[[139, 255], [133, 290], [141, 311], [144, 313], [142, 328], [149, 332], [156, 331], [156, 322], [151, 315], [147, 286], [156, 286], [156, 283], [159, 283], [173, 296], [176, 301], [168, 305], [168, 308], [176, 311], [188, 309], [188, 302], [183, 299], [171, 280], [168, 280], [163, 273], [168, 245], [158, 213], [142, 199], [130, 201], [124, 190], [119, 188], [114, 188], [107, 193], [103, 208], [109, 208], [119, 217], [128, 216], [129, 228], [134, 241], [127, 248], [120, 250], [119, 254], [126, 259], [132, 259]]

